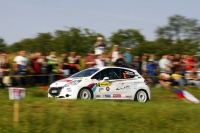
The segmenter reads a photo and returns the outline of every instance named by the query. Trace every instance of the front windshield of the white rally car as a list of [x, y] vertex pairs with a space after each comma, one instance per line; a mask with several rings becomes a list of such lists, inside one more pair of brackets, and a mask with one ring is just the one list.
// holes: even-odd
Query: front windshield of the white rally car
[[69, 78], [88, 77], [88, 76], [91, 76], [92, 74], [94, 74], [97, 71], [99, 71], [99, 69], [90, 68], [90, 69], [86, 69], [86, 70], [80, 71], [78, 73], [75, 73], [74, 75], [70, 76]]

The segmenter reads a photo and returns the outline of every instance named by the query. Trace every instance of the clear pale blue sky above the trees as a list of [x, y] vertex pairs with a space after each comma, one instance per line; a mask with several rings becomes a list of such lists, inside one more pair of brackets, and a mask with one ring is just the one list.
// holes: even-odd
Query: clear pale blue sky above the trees
[[7, 44], [38, 33], [88, 28], [107, 38], [138, 29], [147, 40], [175, 14], [200, 21], [200, 0], [0, 0], [0, 38]]

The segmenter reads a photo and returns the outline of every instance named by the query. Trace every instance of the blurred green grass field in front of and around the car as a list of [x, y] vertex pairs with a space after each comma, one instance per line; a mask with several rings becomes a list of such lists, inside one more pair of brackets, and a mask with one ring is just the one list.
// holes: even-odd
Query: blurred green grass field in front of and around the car
[[[185, 88], [200, 99], [200, 89]], [[13, 126], [13, 103], [0, 89], [0, 133], [199, 133], [200, 104], [180, 100], [173, 89], [152, 88], [147, 103], [48, 99], [27, 88]]]

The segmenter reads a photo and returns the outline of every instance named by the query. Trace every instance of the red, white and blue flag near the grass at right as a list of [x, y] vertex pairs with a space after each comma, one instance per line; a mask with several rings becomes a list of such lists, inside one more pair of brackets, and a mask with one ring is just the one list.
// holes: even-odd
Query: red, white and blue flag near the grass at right
[[183, 91], [183, 90], [174, 90], [174, 93], [180, 97], [181, 99], [183, 100], [187, 100], [189, 102], [192, 102], [192, 103], [199, 103], [200, 101], [194, 97], [192, 94], [190, 94], [189, 92], [187, 91]]

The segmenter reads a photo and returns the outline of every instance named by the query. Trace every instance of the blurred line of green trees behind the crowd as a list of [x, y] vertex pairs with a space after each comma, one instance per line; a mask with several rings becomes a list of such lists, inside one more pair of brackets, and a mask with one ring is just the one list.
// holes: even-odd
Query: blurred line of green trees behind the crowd
[[174, 15], [168, 18], [167, 25], [157, 27], [156, 39], [148, 41], [136, 29], [120, 29], [106, 39], [104, 35], [90, 29], [71, 27], [67, 30], [56, 30], [54, 33], [38, 33], [35, 38], [23, 39], [7, 45], [0, 38], [0, 50], [4, 52], [17, 52], [21, 49], [27, 52], [44, 52], [56, 50], [57, 53], [76, 51], [79, 55], [86, 55], [88, 50], [93, 50], [96, 38], [104, 38], [107, 52], [112, 45], [119, 45], [123, 52], [126, 47], [132, 48], [132, 54], [142, 55], [144, 52], [163, 54], [190, 54], [199, 52], [200, 24], [197, 19]]

